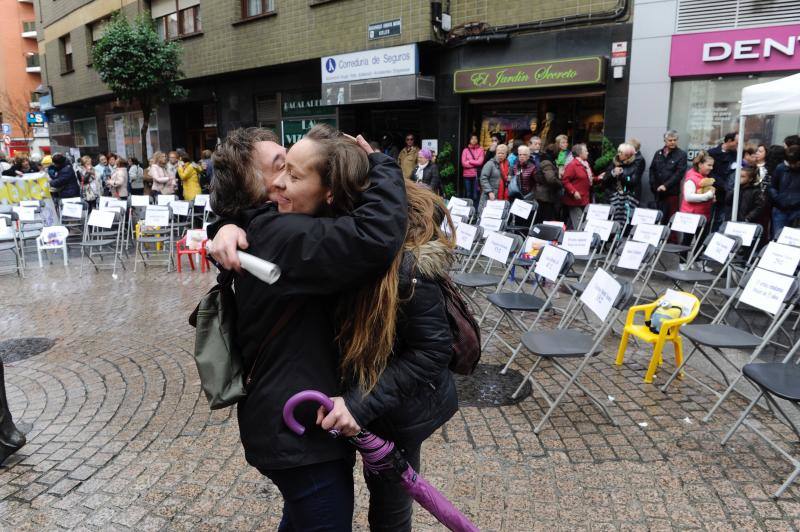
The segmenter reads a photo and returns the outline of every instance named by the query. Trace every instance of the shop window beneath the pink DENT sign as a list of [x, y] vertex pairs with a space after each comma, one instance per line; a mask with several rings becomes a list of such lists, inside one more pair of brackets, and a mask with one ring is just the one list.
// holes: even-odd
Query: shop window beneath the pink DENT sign
[[[680, 135], [680, 146], [693, 159], [700, 150], [719, 144], [726, 133], [739, 129], [742, 89], [778, 77], [701, 79], [672, 83], [669, 127]], [[748, 116], [747, 142], [781, 144], [784, 137], [800, 131], [800, 117]]]

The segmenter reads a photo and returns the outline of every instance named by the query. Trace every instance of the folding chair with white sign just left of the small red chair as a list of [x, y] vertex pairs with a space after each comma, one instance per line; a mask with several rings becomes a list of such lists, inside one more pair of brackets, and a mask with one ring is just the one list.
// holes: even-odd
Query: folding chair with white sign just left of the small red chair
[[139, 222], [136, 237], [133, 271], [141, 262], [145, 268], [150, 264], [166, 264], [167, 273], [174, 265], [175, 241], [172, 227], [172, 208], [168, 205], [148, 205], [145, 207], [143, 222]]

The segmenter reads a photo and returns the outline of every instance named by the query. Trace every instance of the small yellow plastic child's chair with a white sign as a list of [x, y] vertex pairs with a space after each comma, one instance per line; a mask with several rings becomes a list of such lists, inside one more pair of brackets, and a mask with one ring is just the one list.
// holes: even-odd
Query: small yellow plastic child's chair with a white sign
[[[647, 368], [647, 375], [644, 377], [644, 382], [653, 382], [653, 376], [656, 374], [656, 370], [664, 363], [662, 353], [664, 351], [664, 344], [667, 342], [672, 342], [675, 348], [675, 366], [681, 365], [683, 362], [683, 344], [680, 337], [680, 328], [681, 325], [685, 323], [691, 323], [695, 316], [697, 316], [697, 313], [700, 311], [700, 300], [697, 299], [694, 294], [688, 292], [679, 293], [694, 300], [692, 311], [688, 316], [682, 318], [664, 320], [662, 322], [661, 332], [659, 333], [652, 332], [647, 325], [635, 325], [633, 320], [637, 312], [643, 312], [645, 321], [649, 320], [653, 311], [661, 304], [661, 300], [664, 296], [658, 298], [658, 300], [653, 303], [636, 305], [628, 309], [628, 318], [625, 320], [625, 329], [623, 329], [622, 340], [620, 340], [619, 351], [617, 352], [617, 366], [622, 365], [622, 361], [625, 358], [625, 349], [628, 347], [628, 338], [631, 335], [654, 345], [653, 356], [650, 358], [650, 366]], [[683, 372], [681, 372], [679, 378], [683, 378]]]

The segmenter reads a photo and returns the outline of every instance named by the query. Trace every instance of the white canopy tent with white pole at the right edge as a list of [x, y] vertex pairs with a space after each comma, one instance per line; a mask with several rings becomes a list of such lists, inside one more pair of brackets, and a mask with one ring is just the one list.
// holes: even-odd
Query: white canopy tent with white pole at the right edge
[[732, 219], [739, 212], [739, 176], [744, 151], [744, 120], [752, 115], [800, 114], [800, 74], [742, 89], [739, 116], [739, 147], [736, 154], [736, 181], [733, 187]]

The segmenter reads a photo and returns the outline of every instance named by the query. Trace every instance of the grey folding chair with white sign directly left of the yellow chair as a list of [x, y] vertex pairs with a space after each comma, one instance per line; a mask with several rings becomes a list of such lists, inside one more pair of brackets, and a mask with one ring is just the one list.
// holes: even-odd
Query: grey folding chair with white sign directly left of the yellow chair
[[[595, 324], [594, 334], [583, 330], [559, 327], [552, 331], [531, 331], [522, 336], [523, 346], [528, 353], [536, 357], [536, 361], [512, 397], [516, 398], [525, 383], [530, 381], [533, 388], [542, 394], [549, 406], [544, 417], [533, 429], [534, 433], [539, 433], [542, 426], [563, 401], [564, 396], [572, 386], [577, 387], [586, 394], [612, 424], [617, 424], [603, 401], [578, 382], [578, 377], [583, 373], [592, 357], [602, 352], [602, 343], [611, 331], [611, 326], [616, 321], [617, 316], [627, 307], [631, 293], [630, 284], [616, 281], [605, 270], [600, 268], [595, 272], [592, 280], [589, 281], [580, 299], [581, 305], [585, 306], [598, 321]], [[570, 370], [563, 363], [567, 359], [579, 361], [577, 367]], [[567, 378], [567, 382], [555, 399], [551, 398], [544, 387], [533, 378], [534, 371], [543, 360], [548, 360], [559, 373]]]

